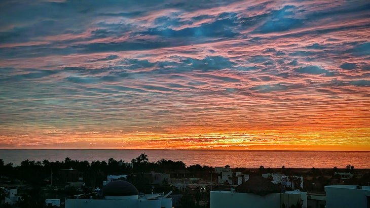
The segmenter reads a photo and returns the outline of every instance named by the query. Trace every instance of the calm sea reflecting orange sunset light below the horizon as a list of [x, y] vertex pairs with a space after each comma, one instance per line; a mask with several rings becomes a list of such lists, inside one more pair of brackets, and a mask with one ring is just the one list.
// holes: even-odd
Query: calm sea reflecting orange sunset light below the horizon
[[73, 160], [107, 161], [110, 157], [116, 160], [131, 161], [141, 153], [148, 155], [149, 161], [162, 158], [181, 160], [188, 166], [201, 164], [209, 166], [225, 166], [232, 168], [370, 168], [370, 152], [338, 152], [338, 151], [251, 151], [251, 150], [0, 150], [0, 158], [7, 164], [12, 162], [20, 165], [29, 159], [42, 161]]

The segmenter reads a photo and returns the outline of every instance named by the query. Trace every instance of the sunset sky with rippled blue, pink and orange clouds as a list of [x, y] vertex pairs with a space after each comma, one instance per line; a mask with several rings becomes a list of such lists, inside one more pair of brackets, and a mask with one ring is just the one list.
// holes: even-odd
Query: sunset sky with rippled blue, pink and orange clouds
[[1, 1], [0, 148], [370, 151], [370, 2]]

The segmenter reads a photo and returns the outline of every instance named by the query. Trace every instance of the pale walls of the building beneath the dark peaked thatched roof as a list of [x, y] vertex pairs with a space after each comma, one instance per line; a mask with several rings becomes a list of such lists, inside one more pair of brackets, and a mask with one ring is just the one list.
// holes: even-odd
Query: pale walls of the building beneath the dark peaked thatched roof
[[281, 208], [302, 204], [307, 208], [307, 193], [289, 191], [285, 193], [271, 193], [260, 196], [253, 193], [237, 193], [234, 191], [211, 191], [210, 208], [245, 207], [245, 208]]

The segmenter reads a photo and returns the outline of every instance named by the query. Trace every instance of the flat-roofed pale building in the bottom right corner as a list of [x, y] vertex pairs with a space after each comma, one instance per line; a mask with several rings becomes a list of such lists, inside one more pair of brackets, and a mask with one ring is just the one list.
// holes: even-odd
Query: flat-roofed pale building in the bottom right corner
[[370, 186], [325, 186], [326, 208], [370, 207]]

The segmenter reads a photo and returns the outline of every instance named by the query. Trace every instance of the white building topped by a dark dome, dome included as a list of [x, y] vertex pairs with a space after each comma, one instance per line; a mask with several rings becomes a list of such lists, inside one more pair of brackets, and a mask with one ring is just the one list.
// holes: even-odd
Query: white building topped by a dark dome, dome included
[[134, 185], [127, 181], [113, 181], [97, 194], [86, 194], [78, 198], [66, 198], [65, 208], [172, 208], [172, 192], [140, 195]]

